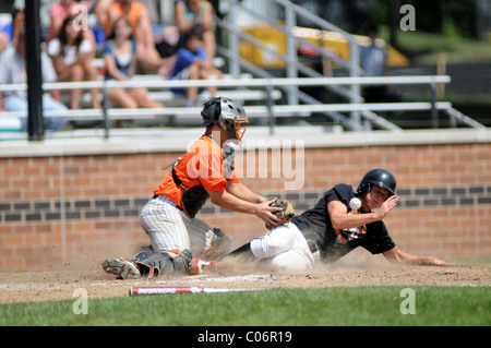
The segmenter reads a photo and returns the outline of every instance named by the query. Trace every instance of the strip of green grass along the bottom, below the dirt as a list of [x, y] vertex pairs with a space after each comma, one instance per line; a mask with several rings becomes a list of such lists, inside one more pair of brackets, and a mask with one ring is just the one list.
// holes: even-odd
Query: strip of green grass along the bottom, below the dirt
[[167, 295], [0, 307], [7, 326], [324, 326], [491, 324], [489, 287], [412, 287], [416, 314], [400, 313], [404, 287], [277, 289], [211, 295]]

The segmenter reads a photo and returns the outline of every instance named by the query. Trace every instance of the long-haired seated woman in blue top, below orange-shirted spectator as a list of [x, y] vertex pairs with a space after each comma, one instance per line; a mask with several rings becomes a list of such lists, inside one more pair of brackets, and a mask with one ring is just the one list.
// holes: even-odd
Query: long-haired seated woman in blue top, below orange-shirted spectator
[[[115, 22], [112, 33], [104, 45], [106, 80], [124, 81], [130, 79], [136, 67], [136, 44], [132, 38], [133, 29], [125, 16]], [[148, 97], [148, 91], [142, 87], [111, 88], [109, 100], [122, 108], [163, 108], [164, 105]]]

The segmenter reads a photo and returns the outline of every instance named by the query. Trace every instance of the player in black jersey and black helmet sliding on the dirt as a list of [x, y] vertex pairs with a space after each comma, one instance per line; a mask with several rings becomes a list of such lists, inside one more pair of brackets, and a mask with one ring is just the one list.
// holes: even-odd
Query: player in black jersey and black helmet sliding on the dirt
[[[312, 268], [316, 261], [336, 261], [362, 247], [394, 262], [448, 265], [435, 257], [405, 253], [394, 243], [382, 219], [399, 200], [395, 190], [396, 179], [390, 171], [372, 169], [364, 175], [356, 193], [350, 185], [337, 184], [312, 209], [253, 239], [225, 259], [242, 255], [247, 260], [261, 260], [275, 272], [299, 271]], [[372, 212], [374, 208], [378, 211]]]

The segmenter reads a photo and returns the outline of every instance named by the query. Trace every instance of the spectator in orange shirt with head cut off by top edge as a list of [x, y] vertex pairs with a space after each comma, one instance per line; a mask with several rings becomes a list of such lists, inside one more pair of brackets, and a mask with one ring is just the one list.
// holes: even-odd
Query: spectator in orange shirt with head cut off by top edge
[[139, 62], [153, 72], [161, 72], [167, 68], [168, 61], [163, 60], [155, 48], [152, 21], [148, 10], [144, 4], [133, 0], [99, 0], [96, 14], [106, 31], [106, 37], [112, 32], [116, 21], [122, 15], [127, 16], [133, 29], [133, 38], [141, 46], [139, 49]]

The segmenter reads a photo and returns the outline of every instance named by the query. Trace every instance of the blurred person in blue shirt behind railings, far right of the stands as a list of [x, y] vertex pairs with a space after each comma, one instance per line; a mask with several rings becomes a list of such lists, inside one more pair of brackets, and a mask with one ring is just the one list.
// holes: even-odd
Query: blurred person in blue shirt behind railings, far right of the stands
[[[379, 28], [375, 24], [370, 24], [367, 31], [370, 38], [370, 46], [363, 47], [360, 52], [361, 68], [364, 76], [388, 75], [387, 48], [382, 40], [378, 40]], [[367, 85], [363, 88], [363, 97], [367, 103], [384, 103], [387, 99], [387, 86]]]

